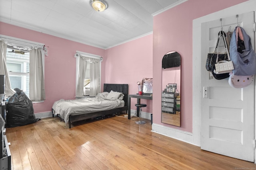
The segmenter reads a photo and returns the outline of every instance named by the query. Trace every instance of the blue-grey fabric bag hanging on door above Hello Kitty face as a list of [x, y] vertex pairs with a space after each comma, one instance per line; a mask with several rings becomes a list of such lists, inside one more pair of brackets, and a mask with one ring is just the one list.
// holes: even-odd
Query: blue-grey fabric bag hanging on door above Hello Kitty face
[[256, 54], [252, 49], [250, 37], [240, 26], [235, 28], [231, 37], [230, 59], [234, 64], [234, 75], [251, 76], [256, 74]]

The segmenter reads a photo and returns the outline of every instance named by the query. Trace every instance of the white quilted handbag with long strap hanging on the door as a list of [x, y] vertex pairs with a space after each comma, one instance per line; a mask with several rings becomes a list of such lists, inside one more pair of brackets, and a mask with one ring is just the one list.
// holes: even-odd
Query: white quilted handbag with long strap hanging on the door
[[[222, 35], [219, 35], [223, 37]], [[228, 45], [227, 45], [227, 41], [226, 41], [226, 37], [223, 38], [224, 39], [224, 44], [225, 44], [225, 50], [227, 52], [228, 55], [228, 61], [226, 60], [218, 60], [218, 55], [217, 54], [217, 58], [216, 58], [216, 63], [215, 63], [215, 70], [214, 73], [216, 74], [223, 74], [223, 73], [229, 73], [232, 72], [232, 70], [234, 70], [234, 66], [232, 61], [230, 61], [230, 57], [229, 57], [229, 51], [228, 51]], [[218, 52], [219, 53], [219, 45], [218, 45]]]

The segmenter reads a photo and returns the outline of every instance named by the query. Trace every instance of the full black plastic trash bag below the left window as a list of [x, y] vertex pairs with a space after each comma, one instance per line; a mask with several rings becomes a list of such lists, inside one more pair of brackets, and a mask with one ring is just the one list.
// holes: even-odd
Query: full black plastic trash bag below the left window
[[6, 105], [8, 110], [6, 117], [6, 127], [17, 127], [35, 123], [41, 119], [36, 119], [32, 101], [18, 88], [15, 88]]

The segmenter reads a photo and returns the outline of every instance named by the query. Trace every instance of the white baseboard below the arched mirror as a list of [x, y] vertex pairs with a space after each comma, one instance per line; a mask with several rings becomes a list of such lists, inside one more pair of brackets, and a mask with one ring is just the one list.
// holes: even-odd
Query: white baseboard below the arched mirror
[[[158, 133], [160, 135], [164, 135], [167, 137], [171, 137], [174, 139], [177, 139], [179, 141], [183, 141], [192, 145], [196, 145], [193, 143], [193, 135], [190, 132], [186, 132], [186, 131], [181, 131], [179, 129], [174, 129], [171, 127], [166, 127], [163, 125], [158, 125], [153, 123], [152, 124], [152, 132], [154, 133]], [[198, 145], [196, 145], [198, 146]], [[198, 146], [199, 147], [199, 146]]]

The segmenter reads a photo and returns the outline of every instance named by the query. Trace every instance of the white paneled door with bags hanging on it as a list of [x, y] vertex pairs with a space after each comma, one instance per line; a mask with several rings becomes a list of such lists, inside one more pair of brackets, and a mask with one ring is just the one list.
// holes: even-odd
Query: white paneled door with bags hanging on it
[[[227, 32], [237, 25], [246, 30], [254, 47], [254, 12], [202, 23], [202, 122], [201, 149], [254, 162], [254, 82], [232, 88], [228, 79], [216, 80], [205, 68], [221, 27]], [[224, 51], [224, 43], [220, 44]]]

